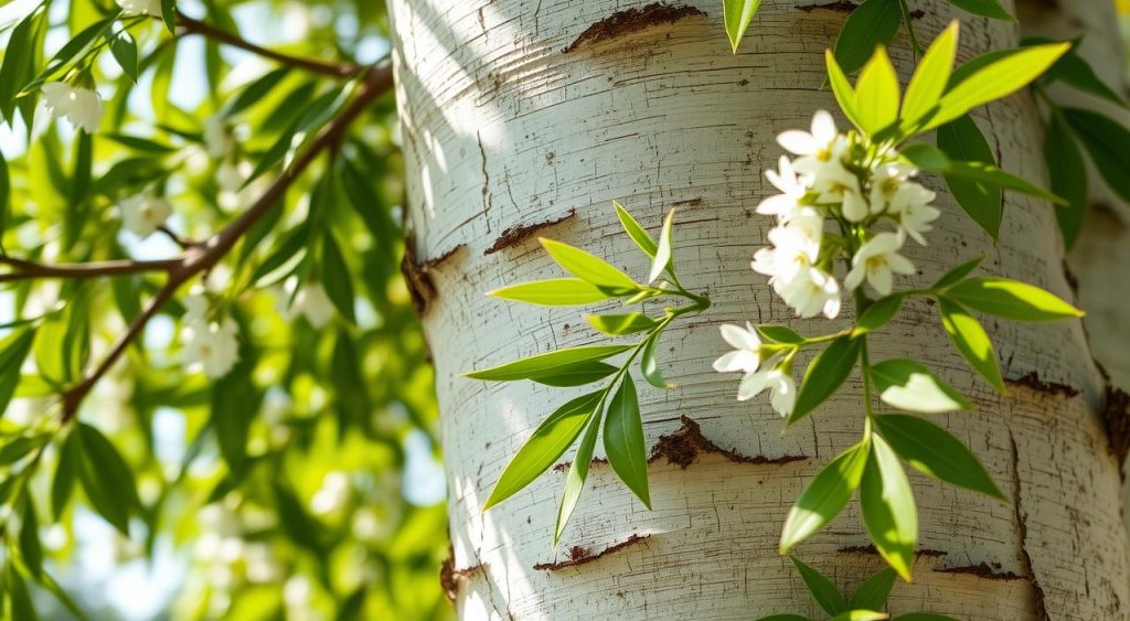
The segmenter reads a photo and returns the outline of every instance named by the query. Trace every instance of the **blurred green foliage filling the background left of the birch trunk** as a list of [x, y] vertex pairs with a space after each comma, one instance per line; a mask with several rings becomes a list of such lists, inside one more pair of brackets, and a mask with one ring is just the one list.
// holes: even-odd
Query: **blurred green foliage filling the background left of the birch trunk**
[[[114, 0], [0, 0], [0, 49], [37, 73], [118, 9]], [[389, 50], [384, 6], [372, 0], [183, 0], [177, 9], [299, 58], [367, 65]], [[36, 10], [29, 46], [9, 45]], [[139, 77], [108, 45], [88, 54], [105, 100], [98, 132], [53, 122], [34, 93], [0, 128], [9, 256], [176, 256], [179, 242], [207, 239], [245, 210], [349, 94], [346, 80], [177, 37], [159, 19], [118, 24], [137, 44]], [[234, 138], [223, 159], [205, 140], [219, 120]], [[21, 366], [0, 359], [15, 367], [0, 369], [0, 395], [18, 378], [0, 419], [9, 616], [31, 614], [24, 589], [44, 619], [75, 609], [90, 619], [451, 614], [437, 579], [447, 535], [432, 369], [399, 272], [397, 140], [389, 93], [208, 272], [216, 306], [240, 326], [240, 362], [218, 381], [183, 364], [184, 307], [174, 300], [85, 400], [81, 426], [60, 425], [60, 392], [105, 356], [163, 277], [5, 286], [0, 349], [34, 339]], [[224, 187], [225, 165], [260, 176]], [[175, 236], [141, 239], [120, 225], [118, 205], [147, 192], [172, 204]], [[337, 260], [327, 250], [334, 243]], [[338, 306], [328, 320], [290, 306], [311, 279]], [[124, 470], [115, 472], [112, 453]]]

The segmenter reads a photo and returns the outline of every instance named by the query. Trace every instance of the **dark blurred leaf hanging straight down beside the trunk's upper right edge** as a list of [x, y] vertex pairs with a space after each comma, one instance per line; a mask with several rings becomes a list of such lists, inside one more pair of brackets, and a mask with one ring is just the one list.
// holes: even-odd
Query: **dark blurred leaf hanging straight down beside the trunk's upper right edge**
[[1087, 165], [1071, 128], [1058, 112], [1052, 113], [1044, 134], [1044, 161], [1052, 192], [1067, 201], [1067, 205], [1055, 210], [1055, 220], [1059, 221], [1064, 247], [1071, 250], [1079, 238], [1089, 205]]

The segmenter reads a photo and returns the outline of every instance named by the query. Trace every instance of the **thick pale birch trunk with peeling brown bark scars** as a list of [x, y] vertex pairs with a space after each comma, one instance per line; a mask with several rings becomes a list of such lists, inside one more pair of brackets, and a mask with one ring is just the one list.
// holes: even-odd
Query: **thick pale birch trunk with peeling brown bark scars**
[[[406, 273], [434, 355], [449, 479], [453, 569], [464, 619], [751, 619], [815, 612], [776, 544], [788, 508], [818, 467], [862, 427], [860, 384], [782, 435], [764, 400], [739, 403], [737, 381], [710, 369], [727, 349], [724, 322], [794, 321], [749, 269], [772, 192], [760, 172], [776, 133], [807, 128], [823, 50], [845, 14], [765, 0], [738, 54], [720, 3], [634, 0], [393, 0], [394, 59], [411, 225]], [[955, 15], [923, 1], [930, 38]], [[963, 15], [960, 60], [1016, 43], [1015, 25]], [[903, 77], [905, 42], [893, 53]], [[1005, 168], [1044, 177], [1033, 102], [1016, 96], [976, 113]], [[1071, 299], [1051, 208], [1008, 194], [1001, 244], [972, 225], [939, 180], [944, 219], [930, 246], [906, 251], [925, 283], [986, 254], [996, 273]], [[616, 199], [655, 229], [678, 210], [676, 256], [710, 313], [663, 339], [666, 375], [643, 390], [654, 510], [601, 463], [559, 549], [550, 548], [564, 472], [484, 514], [490, 487], [538, 422], [572, 395], [530, 383], [458, 377], [553, 348], [599, 341], [575, 309], [501, 303], [484, 292], [558, 275], [537, 235], [584, 247], [635, 274], [646, 265], [619, 231]], [[1119, 464], [1098, 412], [1104, 381], [1078, 322], [985, 322], [1008, 395], [980, 383], [915, 298], [872, 356], [913, 355], [971, 395], [975, 412], [939, 417], [979, 454], [1015, 504], [912, 474], [920, 507], [915, 583], [894, 612], [963, 619], [1122, 619], [1130, 568]], [[835, 326], [838, 327], [838, 326]], [[599, 448], [598, 448], [599, 452]], [[798, 548], [844, 589], [883, 567], [858, 506]]]

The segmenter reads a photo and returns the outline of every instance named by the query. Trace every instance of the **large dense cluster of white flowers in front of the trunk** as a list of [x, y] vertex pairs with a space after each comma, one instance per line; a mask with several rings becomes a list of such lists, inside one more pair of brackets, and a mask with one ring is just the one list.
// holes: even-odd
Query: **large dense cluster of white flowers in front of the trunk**
[[[753, 269], [770, 277], [773, 290], [801, 317], [837, 316], [843, 290], [864, 280], [889, 294], [895, 273], [914, 271], [898, 254], [903, 243], [910, 237], [924, 245], [923, 234], [940, 215], [930, 205], [935, 193], [912, 181], [918, 170], [894, 149], [855, 132], [838, 133], [824, 111], [816, 113], [811, 131], [790, 130], [777, 142], [798, 157], [782, 156], [779, 169], [765, 173], [782, 193], [757, 207], [777, 226], [768, 233], [772, 246], [754, 255]], [[850, 264], [843, 288], [837, 259]]]

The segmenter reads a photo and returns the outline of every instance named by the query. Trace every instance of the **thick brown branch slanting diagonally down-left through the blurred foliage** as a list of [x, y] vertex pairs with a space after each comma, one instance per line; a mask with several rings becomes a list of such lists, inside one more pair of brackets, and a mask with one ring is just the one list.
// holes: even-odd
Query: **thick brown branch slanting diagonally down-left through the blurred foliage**
[[267, 189], [266, 192], [244, 211], [238, 218], [232, 221], [224, 230], [216, 234], [211, 239], [190, 247], [181, 259], [173, 260], [174, 265], [168, 269], [168, 280], [157, 291], [149, 304], [133, 322], [110, 353], [103, 358], [102, 362], [90, 371], [81, 382], [69, 388], [62, 396], [62, 422], [66, 423], [75, 418], [82, 399], [90, 392], [94, 385], [101, 379], [114, 362], [125, 353], [130, 343], [140, 336], [149, 320], [151, 320], [160, 308], [173, 298], [176, 290], [192, 277], [211, 269], [220, 259], [231, 251], [252, 226], [263, 216], [278, 207], [287, 189], [310, 167], [318, 156], [333, 147], [349, 125], [357, 116], [364, 112], [374, 99], [392, 88], [392, 63], [384, 61], [376, 67], [368, 69], [354, 95], [353, 100], [322, 130], [314, 137], [306, 149], [295, 158], [289, 168], [285, 169], [278, 178]]

